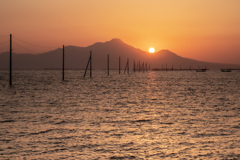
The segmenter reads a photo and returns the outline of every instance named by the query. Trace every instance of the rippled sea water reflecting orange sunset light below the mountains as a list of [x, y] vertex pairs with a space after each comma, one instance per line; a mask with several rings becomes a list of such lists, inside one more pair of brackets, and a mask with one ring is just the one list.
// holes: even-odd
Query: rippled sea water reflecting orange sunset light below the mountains
[[0, 159], [240, 159], [240, 72], [0, 71]]

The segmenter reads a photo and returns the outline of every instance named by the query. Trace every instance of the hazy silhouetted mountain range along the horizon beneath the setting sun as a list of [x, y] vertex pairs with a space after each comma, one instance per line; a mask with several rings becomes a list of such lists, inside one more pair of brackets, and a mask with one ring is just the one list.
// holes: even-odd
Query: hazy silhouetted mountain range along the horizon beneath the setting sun
[[[240, 68], [240, 65], [220, 64], [196, 61], [183, 58], [169, 50], [161, 50], [154, 54], [134, 48], [120, 39], [112, 39], [107, 42], [98, 42], [88, 47], [66, 46], [65, 68], [66, 69], [85, 69], [89, 53], [92, 51], [93, 69], [107, 68], [107, 55], [109, 54], [110, 69], [118, 69], [119, 57], [121, 57], [121, 68], [124, 69], [129, 59], [130, 68], [133, 68], [133, 60], [136, 63], [145, 62], [151, 68]], [[15, 54], [12, 55], [13, 69], [60, 69], [62, 68], [62, 48], [52, 50], [42, 54]], [[9, 52], [0, 54], [0, 69], [9, 68]]]

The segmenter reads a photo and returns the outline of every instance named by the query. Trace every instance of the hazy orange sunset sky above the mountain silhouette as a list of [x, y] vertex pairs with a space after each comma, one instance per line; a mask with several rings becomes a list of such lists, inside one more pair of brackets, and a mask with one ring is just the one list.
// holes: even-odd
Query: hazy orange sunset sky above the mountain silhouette
[[239, 8], [240, 0], [1, 0], [0, 52], [10, 33], [16, 53], [120, 38], [145, 51], [240, 64]]

